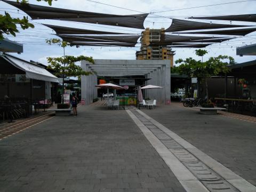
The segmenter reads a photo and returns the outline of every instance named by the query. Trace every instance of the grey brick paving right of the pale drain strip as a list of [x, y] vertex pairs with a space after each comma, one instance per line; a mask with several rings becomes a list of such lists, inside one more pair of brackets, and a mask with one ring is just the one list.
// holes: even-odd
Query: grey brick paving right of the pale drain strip
[[181, 105], [142, 111], [256, 186], [256, 118], [227, 112], [202, 115]]

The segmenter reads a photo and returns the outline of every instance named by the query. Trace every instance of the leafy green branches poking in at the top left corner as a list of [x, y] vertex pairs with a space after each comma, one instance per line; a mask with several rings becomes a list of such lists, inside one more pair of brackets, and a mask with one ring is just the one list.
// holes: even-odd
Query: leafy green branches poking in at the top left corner
[[[42, 1], [42, 0], [37, 0]], [[49, 5], [52, 5], [53, 0], [43, 0], [45, 2], [48, 2]], [[57, 0], [54, 0], [57, 1]], [[26, 0], [19, 1], [18, 3], [28, 3]], [[12, 18], [9, 13], [5, 12], [4, 15], [0, 14], [0, 40], [4, 39], [4, 34], [11, 34], [14, 37], [16, 36], [16, 33], [19, 33], [19, 30], [17, 29], [17, 25], [20, 25], [20, 27], [25, 30], [30, 28], [34, 28], [35, 26], [32, 23], [28, 22], [28, 17], [23, 17], [22, 19], [19, 18]]]

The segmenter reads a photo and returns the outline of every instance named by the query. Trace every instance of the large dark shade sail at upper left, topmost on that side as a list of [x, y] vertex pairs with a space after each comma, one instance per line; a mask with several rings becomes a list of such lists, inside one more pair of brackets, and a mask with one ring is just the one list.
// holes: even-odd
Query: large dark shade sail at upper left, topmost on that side
[[98, 23], [101, 25], [121, 26], [144, 29], [143, 22], [148, 16], [145, 14], [115, 15], [105, 13], [93, 13], [55, 7], [40, 6], [12, 1], [3, 1], [27, 13], [32, 19], [57, 19], [62, 21], [76, 21], [86, 23]]

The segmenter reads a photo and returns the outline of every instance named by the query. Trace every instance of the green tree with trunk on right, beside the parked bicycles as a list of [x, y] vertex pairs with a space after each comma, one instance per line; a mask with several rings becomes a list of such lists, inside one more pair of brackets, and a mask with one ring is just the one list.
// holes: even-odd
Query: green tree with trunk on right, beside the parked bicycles
[[[196, 50], [196, 54], [198, 55], [198, 53], [202, 53], [203, 57], [203, 55], [206, 53], [203, 51]], [[225, 62], [226, 59], [228, 59], [229, 62]], [[205, 62], [187, 58], [186, 60], [179, 59], [175, 61], [175, 63], [181, 63], [179, 66], [180, 74], [185, 74], [190, 78], [197, 77], [198, 82], [205, 80], [206, 99], [208, 100], [209, 95], [206, 78], [219, 74], [227, 74], [229, 72], [227, 65], [229, 65], [229, 63], [234, 63], [234, 59], [232, 57], [228, 57], [227, 55], [219, 55], [218, 57], [211, 57]]]

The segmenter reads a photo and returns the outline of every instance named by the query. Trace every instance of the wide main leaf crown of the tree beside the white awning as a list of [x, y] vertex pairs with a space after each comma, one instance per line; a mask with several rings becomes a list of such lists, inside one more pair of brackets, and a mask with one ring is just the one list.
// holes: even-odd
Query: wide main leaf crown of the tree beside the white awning
[[62, 76], [64, 74], [66, 77], [77, 77], [81, 75], [92, 74], [91, 72], [83, 71], [83, 69], [80, 66], [75, 64], [75, 62], [82, 61], [82, 60], [86, 60], [91, 63], [94, 63], [92, 57], [85, 57], [83, 55], [74, 57], [71, 55], [66, 55], [65, 58], [64, 57], [47, 58], [48, 63], [50, 63], [50, 65], [47, 68], [56, 71], [54, 73], [54, 75], [56, 76]]

